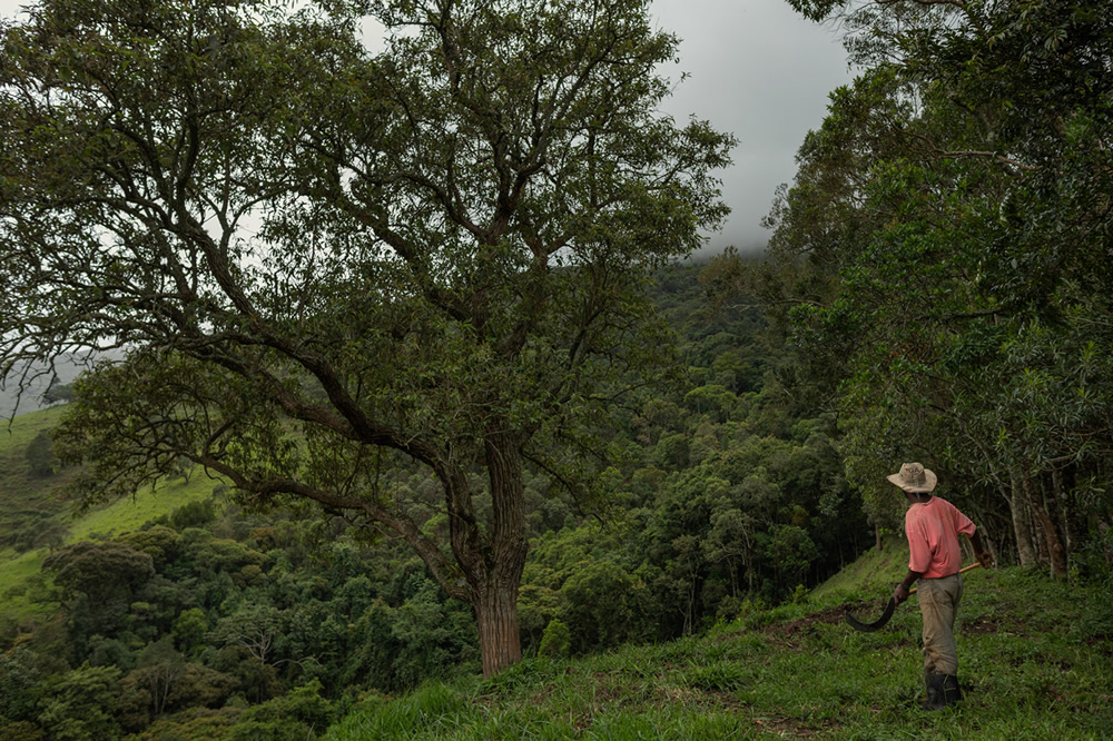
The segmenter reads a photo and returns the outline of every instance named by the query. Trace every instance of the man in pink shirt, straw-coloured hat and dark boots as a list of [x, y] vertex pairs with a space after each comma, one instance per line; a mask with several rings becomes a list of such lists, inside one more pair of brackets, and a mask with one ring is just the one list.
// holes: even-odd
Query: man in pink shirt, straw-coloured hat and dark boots
[[963, 699], [958, 688], [958, 651], [955, 648], [955, 615], [963, 597], [962, 551], [958, 533], [971, 539], [983, 566], [993, 565], [993, 556], [982, 542], [969, 517], [932, 492], [938, 477], [918, 463], [906, 463], [887, 478], [908, 498], [905, 535], [908, 537], [908, 573], [893, 591], [900, 604], [908, 589], [919, 582], [919, 610], [924, 616], [924, 680], [927, 684], [925, 710], [939, 710]]

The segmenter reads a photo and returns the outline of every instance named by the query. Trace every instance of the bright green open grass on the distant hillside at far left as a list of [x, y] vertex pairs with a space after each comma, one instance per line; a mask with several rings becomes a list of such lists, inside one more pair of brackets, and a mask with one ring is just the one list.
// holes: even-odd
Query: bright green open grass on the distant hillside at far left
[[[73, 516], [69, 504], [58, 496], [58, 487], [68, 481], [66, 474], [38, 480], [29, 475], [24, 451], [41, 429], [58, 423], [61, 407], [22, 414], [10, 427], [0, 428], [0, 527], [16, 522], [17, 513], [36, 510], [50, 513], [68, 527], [66, 543], [95, 537], [111, 537], [138, 530], [144, 523], [167, 515], [183, 504], [211, 495], [217, 482], [195, 474], [186, 484], [183, 480], [168, 482], [157, 492], [145, 490], [134, 500], [121, 500]], [[29, 584], [39, 573], [45, 549], [26, 553], [0, 551], [0, 615], [16, 619], [39, 614], [50, 609], [33, 602]]]

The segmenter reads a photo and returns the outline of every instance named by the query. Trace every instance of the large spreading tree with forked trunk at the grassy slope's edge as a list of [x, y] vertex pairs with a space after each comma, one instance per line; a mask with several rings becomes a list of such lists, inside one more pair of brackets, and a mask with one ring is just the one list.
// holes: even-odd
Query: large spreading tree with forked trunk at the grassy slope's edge
[[677, 40], [642, 0], [284, 4], [3, 30], [0, 369], [121, 349], [58, 434], [85, 497], [186, 457], [402, 537], [491, 674], [521, 655], [523, 470], [590, 492], [664, 345], [643, 281], [725, 216], [732, 139], [659, 113]]

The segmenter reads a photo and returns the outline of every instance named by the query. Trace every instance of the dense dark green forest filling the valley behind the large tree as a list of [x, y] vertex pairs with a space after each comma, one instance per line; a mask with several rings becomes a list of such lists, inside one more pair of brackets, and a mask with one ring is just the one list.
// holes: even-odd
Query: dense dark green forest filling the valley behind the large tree
[[[684, 383], [624, 409], [602, 474], [612, 508], [588, 516], [526, 481], [528, 655], [702, 631], [794, 599], [874, 543], [830, 419], [786, 393], [762, 314], [715, 310], [700, 269], [669, 268], [652, 290], [680, 335]], [[41, 442], [18, 468], [45, 495], [72, 472], [43, 475]], [[423, 527], [443, 527], [435, 483], [395, 475], [426, 502]], [[2, 619], [4, 738], [303, 739], [367, 692], [477, 670], [470, 606], [405, 544], [342, 517], [246, 514], [234, 500], [214, 483], [135, 532], [70, 543], [65, 505], [39, 511], [27, 530], [62, 534], [41, 577], [18, 587], [45, 616]], [[20, 532], [8, 531], [10, 547], [43, 546]]]

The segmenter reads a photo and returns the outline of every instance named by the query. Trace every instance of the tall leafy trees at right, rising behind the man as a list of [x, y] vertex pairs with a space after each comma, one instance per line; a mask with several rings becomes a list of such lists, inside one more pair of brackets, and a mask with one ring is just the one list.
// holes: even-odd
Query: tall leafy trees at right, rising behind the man
[[942, 466], [1065, 574], [1113, 520], [1113, 7], [789, 2], [863, 69], [800, 149], [761, 286], [848, 473], [880, 515], [887, 467]]

